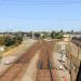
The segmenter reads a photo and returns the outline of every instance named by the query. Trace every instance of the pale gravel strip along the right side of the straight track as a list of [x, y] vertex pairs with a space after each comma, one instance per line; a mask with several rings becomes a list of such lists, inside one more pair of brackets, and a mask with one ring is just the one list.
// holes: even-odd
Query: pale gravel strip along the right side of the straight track
[[[62, 44], [65, 44], [65, 42], [58, 42], [55, 45], [55, 52], [53, 53], [53, 64], [54, 64], [54, 76], [55, 81], [70, 81], [70, 75], [68, 70], [64, 67], [64, 65], [59, 62], [60, 59], [60, 53], [59, 48]], [[59, 69], [59, 67], [63, 68], [63, 70]]]

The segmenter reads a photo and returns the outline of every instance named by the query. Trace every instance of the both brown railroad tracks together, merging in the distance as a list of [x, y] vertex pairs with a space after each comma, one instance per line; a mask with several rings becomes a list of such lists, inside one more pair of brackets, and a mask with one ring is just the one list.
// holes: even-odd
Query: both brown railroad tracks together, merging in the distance
[[2, 76], [0, 81], [21, 81], [30, 59], [40, 51], [38, 62], [38, 73], [36, 81], [54, 81], [54, 68], [52, 64], [52, 54], [54, 50], [54, 41], [41, 40], [35, 43], [28, 52], [13, 64]]

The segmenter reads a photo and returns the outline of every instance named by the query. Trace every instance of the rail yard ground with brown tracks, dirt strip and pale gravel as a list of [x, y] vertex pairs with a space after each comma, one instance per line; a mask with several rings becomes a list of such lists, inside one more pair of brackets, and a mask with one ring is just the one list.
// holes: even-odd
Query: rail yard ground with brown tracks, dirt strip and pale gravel
[[38, 40], [8, 64], [11, 66], [0, 75], [0, 81], [76, 81], [80, 59], [68, 48], [62, 40]]

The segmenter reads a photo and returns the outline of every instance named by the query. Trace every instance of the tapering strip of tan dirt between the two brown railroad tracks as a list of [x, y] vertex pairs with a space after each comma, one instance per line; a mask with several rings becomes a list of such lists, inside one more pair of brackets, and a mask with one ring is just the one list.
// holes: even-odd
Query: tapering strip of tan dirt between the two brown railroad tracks
[[26, 72], [21, 81], [36, 81], [38, 72], [37, 68], [38, 59], [39, 59], [39, 52], [30, 60], [30, 64], [28, 65], [28, 68], [26, 69]]

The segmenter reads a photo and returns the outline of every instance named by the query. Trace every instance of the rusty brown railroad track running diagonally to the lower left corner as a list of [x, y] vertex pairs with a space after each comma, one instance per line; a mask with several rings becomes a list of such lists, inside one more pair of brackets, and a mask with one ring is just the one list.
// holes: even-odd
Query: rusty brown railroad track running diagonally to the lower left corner
[[22, 57], [13, 64], [2, 76], [0, 81], [21, 81], [30, 59], [40, 50], [40, 42], [36, 42]]

